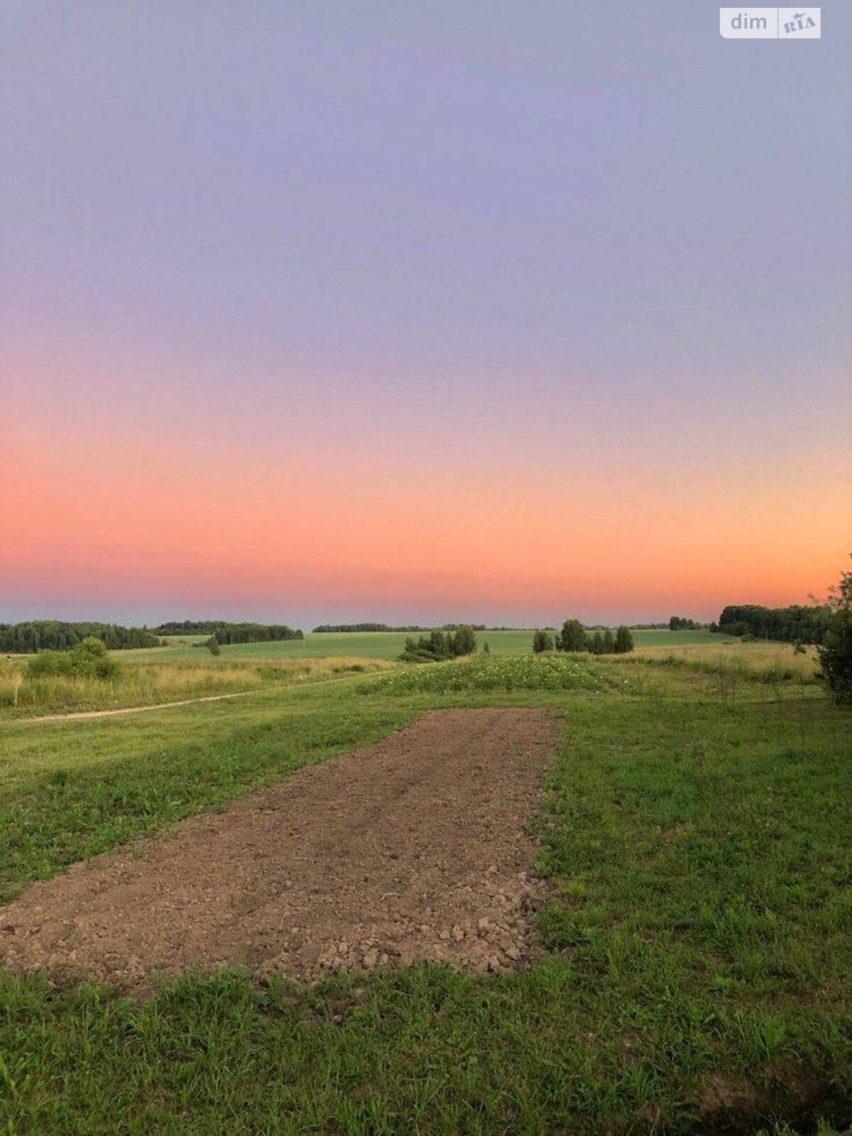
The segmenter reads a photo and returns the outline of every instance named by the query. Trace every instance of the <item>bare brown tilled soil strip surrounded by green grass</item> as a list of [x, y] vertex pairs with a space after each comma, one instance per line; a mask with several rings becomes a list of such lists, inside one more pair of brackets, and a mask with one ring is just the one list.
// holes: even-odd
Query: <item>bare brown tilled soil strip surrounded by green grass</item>
[[440, 710], [377, 745], [34, 884], [0, 966], [144, 989], [247, 966], [310, 980], [419, 960], [501, 971], [533, 946], [535, 808], [554, 721]]

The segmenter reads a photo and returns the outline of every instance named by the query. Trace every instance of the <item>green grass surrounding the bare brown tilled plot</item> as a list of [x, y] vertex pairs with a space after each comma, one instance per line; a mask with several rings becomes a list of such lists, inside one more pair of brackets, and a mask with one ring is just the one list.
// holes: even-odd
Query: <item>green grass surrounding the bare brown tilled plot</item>
[[593, 671], [605, 690], [376, 679], [365, 695], [353, 680], [144, 721], [3, 725], [8, 895], [431, 707], [565, 715], [535, 820], [550, 901], [531, 969], [309, 989], [186, 976], [145, 1004], [0, 975], [0, 1130], [842, 1130], [852, 717], [796, 683], [742, 679], [732, 699], [684, 668]]

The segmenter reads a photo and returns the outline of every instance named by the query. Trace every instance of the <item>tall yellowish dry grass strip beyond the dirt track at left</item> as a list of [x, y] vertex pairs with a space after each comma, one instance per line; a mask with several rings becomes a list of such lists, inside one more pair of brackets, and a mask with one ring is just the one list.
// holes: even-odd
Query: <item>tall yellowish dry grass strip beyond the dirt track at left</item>
[[169, 659], [125, 662], [116, 679], [27, 676], [26, 659], [0, 661], [0, 708], [12, 716], [49, 710], [106, 710], [169, 700], [234, 694], [270, 683], [389, 670], [382, 659]]

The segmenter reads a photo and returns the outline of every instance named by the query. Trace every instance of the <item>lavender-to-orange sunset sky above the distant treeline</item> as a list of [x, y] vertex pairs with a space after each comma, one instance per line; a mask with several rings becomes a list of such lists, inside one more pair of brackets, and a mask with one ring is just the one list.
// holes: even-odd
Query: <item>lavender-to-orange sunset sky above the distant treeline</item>
[[0, 620], [808, 602], [852, 9], [5, 0]]

